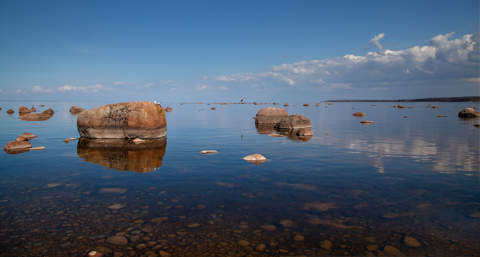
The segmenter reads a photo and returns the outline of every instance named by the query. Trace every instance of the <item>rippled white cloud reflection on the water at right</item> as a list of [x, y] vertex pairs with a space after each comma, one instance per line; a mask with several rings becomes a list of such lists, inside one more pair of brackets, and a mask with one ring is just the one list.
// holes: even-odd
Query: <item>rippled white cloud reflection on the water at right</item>
[[[335, 141], [334, 141], [335, 140]], [[338, 138], [323, 140], [326, 145], [338, 145]], [[349, 153], [368, 154], [372, 166], [378, 172], [385, 172], [384, 158], [410, 157], [416, 162], [432, 162], [432, 171], [455, 173], [456, 170], [475, 171], [477, 157], [471, 152], [471, 143], [464, 139], [426, 140], [420, 137], [370, 139], [345, 139], [345, 147], [354, 151]], [[442, 146], [439, 146], [442, 144]]]

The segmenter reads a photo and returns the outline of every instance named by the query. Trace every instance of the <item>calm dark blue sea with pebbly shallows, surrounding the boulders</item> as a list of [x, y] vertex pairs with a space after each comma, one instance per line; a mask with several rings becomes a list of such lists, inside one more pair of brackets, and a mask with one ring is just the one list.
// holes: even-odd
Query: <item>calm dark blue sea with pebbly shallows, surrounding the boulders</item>
[[[480, 120], [457, 117], [479, 103], [275, 105], [310, 119], [313, 136], [299, 138], [255, 126], [252, 117], [271, 104], [163, 102], [173, 108], [165, 138], [62, 141], [80, 137], [72, 105], [106, 104], [0, 102], [2, 145], [30, 132], [33, 147], [46, 147], [1, 152], [5, 256], [480, 254]], [[55, 114], [24, 121], [21, 105]], [[253, 153], [268, 160], [242, 160]], [[108, 208], [117, 203], [125, 207]], [[150, 222], [158, 217], [168, 219]], [[136, 241], [132, 230], [141, 230]], [[115, 234], [128, 244], [104, 242]]]

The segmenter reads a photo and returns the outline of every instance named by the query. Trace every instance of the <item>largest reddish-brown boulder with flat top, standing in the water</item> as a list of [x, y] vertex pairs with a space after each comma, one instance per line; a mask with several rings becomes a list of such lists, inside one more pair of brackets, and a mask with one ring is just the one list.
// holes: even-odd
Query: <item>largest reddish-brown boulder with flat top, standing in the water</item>
[[87, 138], [161, 138], [167, 134], [167, 120], [161, 105], [136, 101], [81, 112], [77, 128]]

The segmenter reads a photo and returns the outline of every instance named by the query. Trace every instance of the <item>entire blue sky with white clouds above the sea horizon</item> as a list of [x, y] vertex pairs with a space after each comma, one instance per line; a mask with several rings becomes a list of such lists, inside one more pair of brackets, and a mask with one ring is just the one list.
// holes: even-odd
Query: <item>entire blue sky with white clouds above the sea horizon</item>
[[479, 12], [478, 0], [1, 1], [0, 100], [478, 96]]

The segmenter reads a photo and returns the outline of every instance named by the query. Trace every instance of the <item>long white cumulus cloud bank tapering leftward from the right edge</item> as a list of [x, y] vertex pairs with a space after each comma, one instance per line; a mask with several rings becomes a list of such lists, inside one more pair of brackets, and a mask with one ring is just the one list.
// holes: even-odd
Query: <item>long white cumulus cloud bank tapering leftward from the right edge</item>
[[[376, 48], [364, 56], [345, 55], [342, 58], [300, 61], [273, 66], [260, 73], [205, 76], [204, 80], [228, 83], [276, 85], [284, 87], [311, 85], [322, 88], [354, 89], [357, 84], [372, 82], [408, 82], [438, 79], [478, 80], [479, 35], [464, 35], [448, 40], [454, 32], [437, 35], [431, 46], [415, 46], [391, 51], [382, 46], [379, 34], [369, 41], [368, 48]], [[203, 88], [204, 89], [204, 88]], [[383, 89], [383, 88], [382, 88]], [[202, 89], [200, 89], [202, 90]]]

